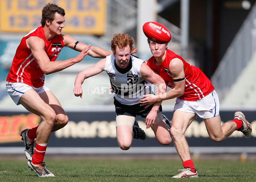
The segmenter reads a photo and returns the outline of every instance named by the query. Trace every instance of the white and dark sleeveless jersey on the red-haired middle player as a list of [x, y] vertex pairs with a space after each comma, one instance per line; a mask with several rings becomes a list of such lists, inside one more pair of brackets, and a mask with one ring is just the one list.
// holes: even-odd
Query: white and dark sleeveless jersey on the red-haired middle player
[[114, 55], [106, 57], [104, 71], [109, 75], [115, 99], [121, 104], [138, 104], [143, 95], [151, 93], [150, 83], [140, 73], [143, 63], [143, 60], [131, 55], [127, 68], [121, 69], [115, 64]]

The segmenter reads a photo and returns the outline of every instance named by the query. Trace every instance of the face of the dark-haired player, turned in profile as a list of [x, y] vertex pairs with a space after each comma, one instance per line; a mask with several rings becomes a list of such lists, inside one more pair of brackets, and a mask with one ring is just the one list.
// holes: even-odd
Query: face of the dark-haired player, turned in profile
[[55, 14], [55, 19], [50, 23], [49, 29], [52, 34], [61, 35], [64, 28], [65, 18], [59, 13]]

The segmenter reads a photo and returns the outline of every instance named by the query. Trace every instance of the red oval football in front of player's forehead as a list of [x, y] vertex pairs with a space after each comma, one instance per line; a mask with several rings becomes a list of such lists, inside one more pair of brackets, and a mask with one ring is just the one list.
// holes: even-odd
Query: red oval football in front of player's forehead
[[168, 43], [171, 40], [171, 33], [160, 23], [149, 21], [144, 23], [143, 32], [147, 38], [156, 43]]

